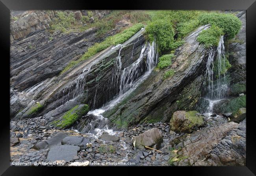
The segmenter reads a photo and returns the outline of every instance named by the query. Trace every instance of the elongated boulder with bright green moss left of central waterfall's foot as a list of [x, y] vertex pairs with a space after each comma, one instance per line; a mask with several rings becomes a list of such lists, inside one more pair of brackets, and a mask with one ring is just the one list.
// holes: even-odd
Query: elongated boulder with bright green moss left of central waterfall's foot
[[58, 120], [54, 121], [53, 124], [59, 128], [68, 128], [73, 125], [78, 119], [89, 112], [89, 106], [85, 104], [76, 105], [67, 111]]

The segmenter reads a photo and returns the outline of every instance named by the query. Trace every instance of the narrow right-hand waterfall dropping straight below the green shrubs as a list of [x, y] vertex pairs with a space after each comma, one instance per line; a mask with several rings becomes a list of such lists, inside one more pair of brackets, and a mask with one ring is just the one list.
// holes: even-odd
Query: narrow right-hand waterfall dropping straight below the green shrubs
[[205, 98], [209, 101], [207, 114], [212, 114], [215, 103], [226, 97], [228, 84], [226, 80], [226, 58], [224, 51], [224, 38], [221, 36], [217, 51], [211, 49], [206, 64], [206, 81], [208, 86]]

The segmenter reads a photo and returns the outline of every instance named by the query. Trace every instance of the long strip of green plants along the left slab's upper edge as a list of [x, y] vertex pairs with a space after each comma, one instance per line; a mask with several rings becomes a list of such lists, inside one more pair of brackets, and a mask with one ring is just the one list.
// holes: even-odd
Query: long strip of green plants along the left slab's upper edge
[[95, 43], [93, 46], [91, 46], [87, 52], [85, 52], [80, 59], [77, 61], [71, 61], [69, 64], [62, 70], [62, 73], [65, 73], [67, 70], [72, 68], [74, 65], [78, 64], [79, 62], [88, 59], [89, 57], [92, 57], [96, 53], [103, 51], [104, 49], [108, 48], [111, 45], [117, 45], [122, 44], [129, 38], [131, 38], [135, 33], [137, 33], [142, 27], [144, 27], [143, 24], [135, 24], [134, 26], [125, 29], [121, 33], [118, 33], [114, 36], [107, 37], [103, 42]]

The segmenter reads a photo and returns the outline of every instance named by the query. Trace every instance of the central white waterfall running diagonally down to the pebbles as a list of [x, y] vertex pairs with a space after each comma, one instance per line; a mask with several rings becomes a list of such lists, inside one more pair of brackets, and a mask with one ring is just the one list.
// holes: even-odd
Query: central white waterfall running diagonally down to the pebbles
[[[120, 49], [121, 51], [121, 49]], [[122, 67], [121, 56], [116, 58], [116, 76], [119, 75], [119, 72]], [[147, 59], [144, 60], [144, 58]], [[143, 69], [143, 63], [146, 62], [145, 69]], [[139, 58], [127, 68], [124, 68], [122, 74], [120, 75], [120, 91], [119, 94], [111, 101], [106, 103], [102, 108], [92, 110], [88, 112], [87, 116], [90, 116], [90, 121], [85, 127], [81, 130], [82, 133], [94, 133], [96, 137], [100, 136], [102, 132], [106, 131], [109, 134], [113, 134], [113, 130], [108, 128], [108, 119], [103, 117], [101, 114], [106, 110], [109, 110], [117, 103], [119, 103], [126, 95], [130, 94], [137, 86], [142, 83], [148, 75], [152, 72], [153, 68], [158, 62], [158, 53], [156, 49], [156, 42], [152, 44], [144, 45], [141, 49]]]

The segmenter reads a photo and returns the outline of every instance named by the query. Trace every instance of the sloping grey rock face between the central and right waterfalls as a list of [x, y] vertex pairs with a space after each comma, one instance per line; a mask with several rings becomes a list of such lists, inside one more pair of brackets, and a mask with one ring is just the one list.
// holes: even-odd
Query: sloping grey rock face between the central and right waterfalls
[[[170, 112], [168, 107], [178, 101], [176, 98], [184, 87], [192, 83], [205, 70], [208, 50], [200, 45], [196, 38], [202, 29], [208, 27], [207, 25], [199, 27], [185, 38], [186, 42], [177, 51], [176, 59], [171, 66], [176, 72], [172, 77], [163, 80], [161, 74], [165, 70], [152, 73], [145, 83], [139, 86], [132, 93], [132, 96], [125, 100], [127, 102], [121, 102], [113, 110], [106, 112], [104, 117], [108, 117], [113, 126], [115, 121], [118, 120], [130, 122], [128, 126], [154, 118], [157, 118], [154, 120], [161, 121], [164, 117], [164, 121], [169, 121], [172, 116], [171, 113], [176, 110]], [[198, 87], [200, 87], [200, 84]], [[200, 92], [197, 94], [200, 94]], [[196, 97], [199, 98], [200, 96], [197, 95]], [[191, 99], [189, 103], [192, 103], [192, 101]], [[190, 108], [192, 107], [190, 106]]]

